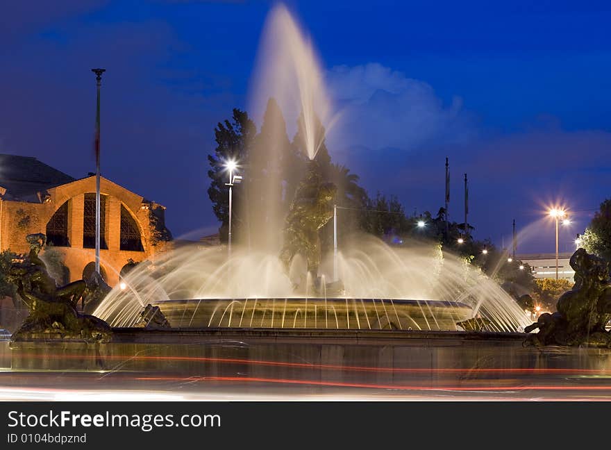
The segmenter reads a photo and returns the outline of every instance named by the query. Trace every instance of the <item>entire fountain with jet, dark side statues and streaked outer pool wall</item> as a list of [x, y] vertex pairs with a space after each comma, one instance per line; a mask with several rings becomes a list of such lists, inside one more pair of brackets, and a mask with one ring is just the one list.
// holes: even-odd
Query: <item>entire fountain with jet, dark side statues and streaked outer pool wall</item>
[[[35, 306], [40, 290], [28, 297], [31, 283], [22, 285], [24, 298], [33, 300], [33, 317], [22, 339], [0, 342], [0, 372], [19, 373], [3, 378], [0, 393], [27, 394], [28, 375], [35, 376], [32, 395], [60, 392], [58, 379], [67, 372], [66, 384], [78, 389], [79, 398], [92, 385], [96, 393], [192, 390], [222, 399], [245, 391], [267, 395], [267, 386], [278, 385], [297, 394], [381, 390], [385, 398], [396, 392], [479, 398], [488, 392], [495, 400], [524, 399], [530, 391], [540, 399], [548, 392], [580, 390], [569, 395], [592, 399], [611, 392], [599, 381], [611, 374], [608, 349], [567, 347], [610, 342], [601, 329], [611, 314], [610, 288], [596, 260], [580, 260], [584, 270], [578, 275], [585, 278], [563, 296], [560, 315], [542, 315], [527, 326], [524, 310], [496, 281], [439, 246], [390, 247], [355, 234], [340, 236], [337, 252], [321, 250], [318, 231], [332, 217], [335, 187], [317, 173], [317, 152], [324, 147], [322, 124], [328, 129], [336, 115], [315, 53], [285, 8], [274, 9], [267, 29], [264, 41], [274, 51], [265, 54], [273, 60], [263, 65], [267, 82], [255, 92], [299, 115], [306, 160], [290, 208], [279, 206], [281, 183], [275, 177], [286, 167], [272, 145], [256, 161], [270, 169], [267, 180], [244, 190], [245, 197], [267, 201], [260, 208], [265, 214], [253, 215], [251, 240], [236, 245], [231, 257], [224, 246], [168, 251], [131, 269], [123, 289], [117, 286], [104, 297], [103, 290], [90, 293], [84, 315], [75, 310], [83, 283], [47, 283], [41, 315]], [[278, 128], [283, 127], [272, 124], [271, 135], [280, 139]], [[37, 249], [36, 244], [30, 258], [36, 264], [15, 267], [17, 283], [40, 276], [49, 281]], [[45, 302], [58, 310], [44, 310]], [[58, 338], [28, 334], [48, 331], [49, 318]], [[592, 326], [584, 335], [573, 333], [573, 324]], [[540, 332], [516, 333], [525, 327]], [[571, 342], [567, 332], [573, 333]], [[540, 347], [524, 346], [525, 338]], [[233, 383], [240, 383], [237, 390]], [[303, 390], [296, 391], [299, 385]], [[229, 397], [217, 391], [226, 386]]]

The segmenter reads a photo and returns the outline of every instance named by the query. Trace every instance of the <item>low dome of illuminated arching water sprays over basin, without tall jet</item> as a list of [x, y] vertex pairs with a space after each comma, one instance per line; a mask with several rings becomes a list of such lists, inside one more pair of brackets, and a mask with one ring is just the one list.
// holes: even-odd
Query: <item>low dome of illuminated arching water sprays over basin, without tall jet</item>
[[[480, 315], [498, 331], [521, 331], [523, 310], [478, 269], [430, 245], [391, 248], [363, 237], [338, 256], [344, 295], [296, 293], [274, 254], [226, 247], [186, 247], [154, 265], [139, 265], [94, 315], [112, 326], [134, 326], [148, 303], [176, 327], [354, 328], [454, 330]], [[305, 273], [294, 260], [291, 274]], [[322, 265], [331, 278], [333, 261]]]

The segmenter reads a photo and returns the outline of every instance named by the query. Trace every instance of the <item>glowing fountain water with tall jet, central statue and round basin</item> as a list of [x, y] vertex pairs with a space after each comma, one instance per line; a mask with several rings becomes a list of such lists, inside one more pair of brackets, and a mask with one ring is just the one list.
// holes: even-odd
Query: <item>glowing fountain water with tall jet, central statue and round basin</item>
[[[341, 251], [323, 258], [319, 229], [333, 218], [336, 189], [324, 180], [317, 153], [323, 125], [332, 126], [337, 114], [315, 51], [286, 8], [276, 6], [265, 29], [253, 105], [274, 98], [285, 113], [299, 116], [307, 161], [290, 209], [283, 214], [278, 207], [279, 174], [289, 168], [271, 146], [251, 161], [273, 168], [267, 181], [244, 193], [256, 190], [267, 202], [265, 217], [249, 223], [258, 245], [237, 246], [229, 259], [224, 247], [177, 249], [132, 270], [126, 290], [113, 290], [90, 312], [115, 327], [135, 326], [150, 304], [174, 328], [455, 331], [457, 322], [480, 317], [489, 331], [522, 331], [527, 318], [510, 295], [433, 245], [394, 249], [371, 236], [342, 237]], [[269, 124], [284, 128], [277, 125]]]

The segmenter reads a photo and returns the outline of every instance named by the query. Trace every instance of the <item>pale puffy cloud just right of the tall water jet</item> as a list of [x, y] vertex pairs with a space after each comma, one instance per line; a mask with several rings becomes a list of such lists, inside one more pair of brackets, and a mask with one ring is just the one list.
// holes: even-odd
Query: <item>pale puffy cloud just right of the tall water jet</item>
[[339, 124], [328, 133], [337, 151], [354, 146], [414, 151], [466, 142], [476, 134], [474, 117], [460, 97], [444, 104], [424, 81], [378, 63], [336, 66], [326, 80], [340, 111]]

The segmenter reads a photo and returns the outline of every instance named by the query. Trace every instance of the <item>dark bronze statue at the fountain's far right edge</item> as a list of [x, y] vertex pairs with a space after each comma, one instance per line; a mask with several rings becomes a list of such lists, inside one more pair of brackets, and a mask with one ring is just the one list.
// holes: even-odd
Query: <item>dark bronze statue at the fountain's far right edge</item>
[[525, 345], [592, 345], [611, 347], [611, 333], [605, 325], [611, 320], [609, 266], [604, 260], [577, 249], [569, 264], [575, 270], [573, 288], [558, 299], [556, 313], [544, 313], [524, 328]]

